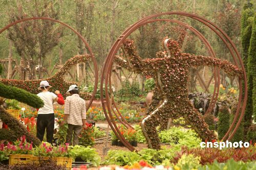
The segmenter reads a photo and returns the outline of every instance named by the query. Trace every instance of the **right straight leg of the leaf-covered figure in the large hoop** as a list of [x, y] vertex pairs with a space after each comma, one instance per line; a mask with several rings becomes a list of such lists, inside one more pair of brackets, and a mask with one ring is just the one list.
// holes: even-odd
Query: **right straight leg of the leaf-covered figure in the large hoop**
[[183, 113], [183, 117], [186, 122], [193, 128], [203, 140], [217, 139], [214, 131], [209, 130], [208, 125], [204, 122], [201, 113], [199, 113], [189, 102], [187, 102], [185, 108], [186, 112]]

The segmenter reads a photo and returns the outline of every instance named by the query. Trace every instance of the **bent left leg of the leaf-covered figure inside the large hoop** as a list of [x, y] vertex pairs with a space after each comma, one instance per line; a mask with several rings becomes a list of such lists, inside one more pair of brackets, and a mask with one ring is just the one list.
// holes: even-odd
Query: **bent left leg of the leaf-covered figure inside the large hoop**
[[147, 140], [148, 148], [160, 150], [160, 139], [156, 127], [160, 124], [160, 117], [163, 117], [169, 112], [166, 109], [166, 104], [167, 100], [164, 100], [159, 107], [157, 107], [150, 115], [147, 115], [141, 122], [141, 128]]

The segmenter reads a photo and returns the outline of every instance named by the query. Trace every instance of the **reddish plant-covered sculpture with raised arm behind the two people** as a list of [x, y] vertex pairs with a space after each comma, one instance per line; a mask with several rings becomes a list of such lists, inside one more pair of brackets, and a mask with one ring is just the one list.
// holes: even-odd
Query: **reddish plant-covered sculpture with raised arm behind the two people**
[[[72, 84], [76, 84], [75, 82], [67, 82], [65, 81], [65, 74], [69, 71], [71, 66], [78, 64], [78, 63], [86, 63], [90, 61], [90, 55], [77, 55], [66, 61], [66, 63], [63, 65], [63, 67], [56, 72], [56, 74], [53, 77], [45, 79], [46, 81], [51, 84], [52, 88], [51, 90], [59, 90], [60, 93], [63, 94], [63, 97], [66, 97], [66, 91], [69, 89], [69, 86]], [[0, 82], [4, 83], [8, 86], [15, 86], [18, 88], [22, 88], [24, 90], [27, 90], [33, 94], [37, 94], [39, 90], [37, 89], [40, 82], [42, 80], [8, 80], [8, 79], [0, 79]], [[90, 93], [86, 92], [80, 92], [80, 97], [84, 100], [88, 100], [91, 98]]]

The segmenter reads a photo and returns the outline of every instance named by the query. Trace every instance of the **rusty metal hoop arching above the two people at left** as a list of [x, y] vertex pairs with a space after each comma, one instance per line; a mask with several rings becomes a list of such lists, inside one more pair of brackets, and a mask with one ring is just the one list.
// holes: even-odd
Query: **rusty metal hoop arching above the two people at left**
[[17, 23], [20, 22], [24, 22], [24, 21], [28, 21], [28, 20], [50, 20], [53, 22], [57, 22], [60, 23], [60, 25], [65, 26], [66, 28], [69, 28], [70, 30], [72, 30], [79, 38], [81, 38], [81, 40], [83, 41], [83, 43], [86, 45], [86, 47], [88, 48], [89, 52], [90, 52], [90, 56], [92, 58], [93, 61], [93, 65], [94, 65], [94, 74], [95, 74], [95, 82], [94, 82], [94, 89], [93, 89], [93, 94], [92, 94], [92, 98], [90, 99], [90, 102], [88, 104], [88, 106], [86, 107], [86, 110], [88, 110], [93, 102], [93, 98], [96, 94], [97, 91], [97, 85], [98, 85], [98, 68], [97, 68], [97, 62], [95, 60], [94, 54], [92, 52], [92, 49], [90, 47], [90, 45], [87, 43], [86, 39], [83, 38], [83, 36], [78, 33], [75, 29], [73, 29], [72, 27], [70, 27], [69, 25], [67, 25], [66, 23], [63, 23], [59, 20], [56, 19], [52, 19], [52, 18], [48, 18], [48, 17], [31, 17], [31, 18], [24, 18], [24, 19], [20, 19], [20, 20], [16, 20], [12, 23], [10, 23], [9, 25], [5, 26], [3, 29], [0, 30], [0, 34], [3, 33], [5, 30], [9, 29], [10, 27], [16, 25]]

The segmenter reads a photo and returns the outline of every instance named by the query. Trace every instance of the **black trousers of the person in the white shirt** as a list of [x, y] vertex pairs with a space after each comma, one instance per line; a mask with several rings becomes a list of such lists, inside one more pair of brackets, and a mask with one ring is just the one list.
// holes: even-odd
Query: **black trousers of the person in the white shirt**
[[47, 142], [53, 142], [53, 131], [54, 131], [54, 113], [50, 114], [38, 114], [36, 121], [36, 137], [42, 141], [44, 139], [46, 130]]

